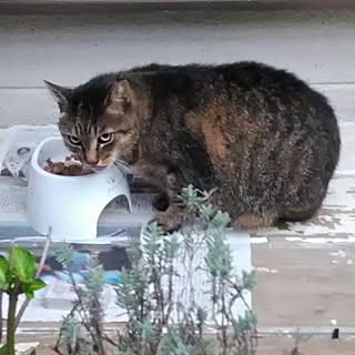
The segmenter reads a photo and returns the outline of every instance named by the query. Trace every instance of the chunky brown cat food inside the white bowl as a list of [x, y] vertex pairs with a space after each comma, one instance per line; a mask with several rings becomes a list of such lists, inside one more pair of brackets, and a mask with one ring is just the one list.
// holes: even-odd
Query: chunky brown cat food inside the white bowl
[[64, 162], [53, 162], [50, 158], [45, 161], [43, 170], [51, 174], [64, 176], [88, 175], [93, 173], [90, 168], [84, 168], [74, 156], [65, 156]]

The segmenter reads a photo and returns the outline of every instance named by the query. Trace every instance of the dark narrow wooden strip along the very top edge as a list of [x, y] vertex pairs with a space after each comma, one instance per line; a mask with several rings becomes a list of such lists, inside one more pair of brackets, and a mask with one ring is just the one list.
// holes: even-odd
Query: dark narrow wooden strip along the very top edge
[[354, 10], [353, 0], [26, 0], [0, 1], [0, 13], [11, 16], [28, 14], [112, 14], [121, 11], [155, 12], [155, 11], [282, 11], [282, 10]]

